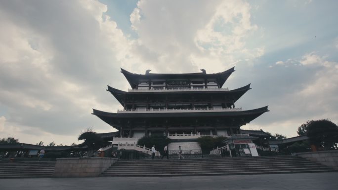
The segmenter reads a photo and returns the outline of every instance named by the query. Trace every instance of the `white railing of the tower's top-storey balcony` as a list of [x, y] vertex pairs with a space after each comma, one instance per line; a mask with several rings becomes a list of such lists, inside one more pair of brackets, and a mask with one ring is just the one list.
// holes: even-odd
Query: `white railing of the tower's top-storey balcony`
[[229, 88], [155, 88], [155, 89], [128, 89], [128, 92], [201, 92], [201, 91], [229, 91]]

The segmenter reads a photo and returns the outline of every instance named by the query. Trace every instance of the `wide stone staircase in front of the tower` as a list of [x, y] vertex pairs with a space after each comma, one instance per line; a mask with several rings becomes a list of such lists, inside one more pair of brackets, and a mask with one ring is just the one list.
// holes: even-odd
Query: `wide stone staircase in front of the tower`
[[298, 156], [119, 160], [100, 177], [204, 176], [337, 172]]

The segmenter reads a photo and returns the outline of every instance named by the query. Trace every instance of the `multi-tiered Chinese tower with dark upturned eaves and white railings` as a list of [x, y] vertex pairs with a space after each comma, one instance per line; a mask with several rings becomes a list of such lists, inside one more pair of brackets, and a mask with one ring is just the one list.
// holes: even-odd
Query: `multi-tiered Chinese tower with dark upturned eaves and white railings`
[[185, 149], [200, 149], [197, 138], [203, 135], [241, 134], [240, 127], [268, 112], [267, 106], [243, 111], [235, 102], [250, 88], [222, 88], [234, 72], [207, 74], [132, 74], [124, 69], [131, 89], [127, 92], [108, 86], [108, 91], [121, 103], [117, 113], [93, 109], [93, 114], [119, 131], [113, 144], [135, 143], [143, 136], [163, 134]]

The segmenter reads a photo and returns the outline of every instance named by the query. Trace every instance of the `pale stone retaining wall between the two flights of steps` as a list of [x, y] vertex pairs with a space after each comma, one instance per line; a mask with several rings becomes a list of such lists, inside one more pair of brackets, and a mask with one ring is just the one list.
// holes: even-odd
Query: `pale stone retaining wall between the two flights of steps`
[[97, 177], [118, 158], [57, 158], [53, 177]]

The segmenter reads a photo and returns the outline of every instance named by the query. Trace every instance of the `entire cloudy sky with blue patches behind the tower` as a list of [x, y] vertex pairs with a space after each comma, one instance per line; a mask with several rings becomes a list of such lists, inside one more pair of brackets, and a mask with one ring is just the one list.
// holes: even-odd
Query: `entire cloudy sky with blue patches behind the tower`
[[338, 122], [337, 0], [0, 0], [0, 138], [79, 143], [114, 131], [92, 108], [121, 105], [120, 73], [218, 73], [251, 83], [236, 104], [270, 112], [243, 126], [296, 136]]

